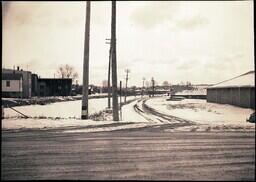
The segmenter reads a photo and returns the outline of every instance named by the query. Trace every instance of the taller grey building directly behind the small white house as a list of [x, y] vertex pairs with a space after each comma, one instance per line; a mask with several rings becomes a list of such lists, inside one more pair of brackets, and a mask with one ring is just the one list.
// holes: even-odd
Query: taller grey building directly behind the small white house
[[[2, 75], [4, 74], [21, 74], [22, 75], [22, 98], [30, 98], [31, 97], [31, 72], [30, 71], [23, 71], [19, 69], [2, 69]], [[16, 77], [16, 76], [14, 76]], [[13, 82], [13, 81], [12, 81]]]

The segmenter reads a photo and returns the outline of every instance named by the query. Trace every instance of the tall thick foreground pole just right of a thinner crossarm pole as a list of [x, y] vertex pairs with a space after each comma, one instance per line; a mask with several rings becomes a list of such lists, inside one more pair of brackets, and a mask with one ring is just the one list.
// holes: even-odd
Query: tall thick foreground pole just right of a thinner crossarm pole
[[117, 69], [116, 69], [116, 1], [112, 1], [111, 21], [111, 49], [112, 49], [112, 105], [113, 120], [119, 121], [118, 96], [117, 96]]

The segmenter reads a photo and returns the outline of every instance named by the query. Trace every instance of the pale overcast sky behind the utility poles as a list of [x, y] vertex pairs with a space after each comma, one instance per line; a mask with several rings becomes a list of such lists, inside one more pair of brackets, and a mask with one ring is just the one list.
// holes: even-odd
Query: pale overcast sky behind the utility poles
[[[3, 2], [3, 67], [82, 82], [86, 2]], [[117, 2], [118, 80], [217, 83], [254, 70], [253, 1]], [[90, 84], [107, 79], [111, 2], [91, 2]]]

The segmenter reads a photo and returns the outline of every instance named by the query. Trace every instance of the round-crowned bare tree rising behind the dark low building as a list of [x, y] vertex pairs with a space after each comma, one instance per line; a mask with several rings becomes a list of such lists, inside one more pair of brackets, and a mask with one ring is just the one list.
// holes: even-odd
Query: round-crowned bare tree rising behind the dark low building
[[57, 74], [60, 78], [72, 78], [72, 81], [78, 78], [78, 73], [75, 71], [74, 67], [68, 64], [59, 66]]

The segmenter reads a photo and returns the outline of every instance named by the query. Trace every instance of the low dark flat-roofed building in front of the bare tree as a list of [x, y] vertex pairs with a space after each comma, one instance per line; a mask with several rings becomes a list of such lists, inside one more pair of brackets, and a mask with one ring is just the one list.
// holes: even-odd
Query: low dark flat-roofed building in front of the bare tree
[[38, 96], [70, 96], [71, 78], [38, 78]]

